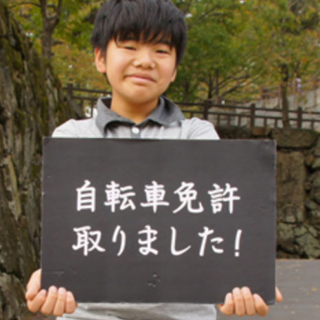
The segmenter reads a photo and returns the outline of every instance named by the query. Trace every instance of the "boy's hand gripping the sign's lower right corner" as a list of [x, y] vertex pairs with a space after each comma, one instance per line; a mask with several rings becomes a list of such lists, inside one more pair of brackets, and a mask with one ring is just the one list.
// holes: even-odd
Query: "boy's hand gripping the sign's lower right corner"
[[[275, 299], [277, 302], [282, 301], [282, 294], [279, 289], [275, 288]], [[267, 315], [268, 306], [260, 297], [260, 295], [252, 294], [248, 287], [234, 288], [232, 293], [227, 293], [225, 296], [225, 304], [218, 305], [220, 312], [225, 315], [255, 315], [258, 314], [262, 317]]]

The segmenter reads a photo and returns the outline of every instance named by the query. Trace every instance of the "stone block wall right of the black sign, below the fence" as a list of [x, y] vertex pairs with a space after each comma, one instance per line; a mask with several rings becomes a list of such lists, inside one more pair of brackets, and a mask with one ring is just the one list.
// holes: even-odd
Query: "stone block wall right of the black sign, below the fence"
[[222, 139], [277, 141], [277, 257], [320, 258], [320, 134], [217, 128]]

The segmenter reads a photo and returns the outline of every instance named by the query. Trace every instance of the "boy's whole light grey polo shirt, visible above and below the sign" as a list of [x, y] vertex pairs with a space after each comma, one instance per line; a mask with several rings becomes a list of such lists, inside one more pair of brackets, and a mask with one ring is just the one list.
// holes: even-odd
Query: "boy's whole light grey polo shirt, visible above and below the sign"
[[[111, 111], [111, 98], [99, 98], [97, 115], [70, 119], [54, 130], [53, 137], [133, 139], [219, 139], [214, 126], [198, 118], [185, 119], [176, 104], [165, 97], [143, 122], [136, 124]], [[86, 281], [90, 281], [87, 279]], [[215, 320], [213, 304], [80, 303], [72, 315], [58, 320]]]

